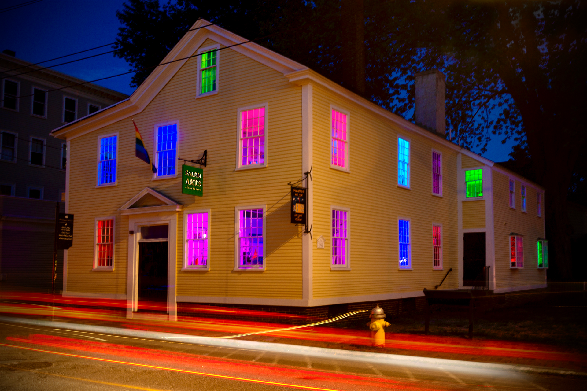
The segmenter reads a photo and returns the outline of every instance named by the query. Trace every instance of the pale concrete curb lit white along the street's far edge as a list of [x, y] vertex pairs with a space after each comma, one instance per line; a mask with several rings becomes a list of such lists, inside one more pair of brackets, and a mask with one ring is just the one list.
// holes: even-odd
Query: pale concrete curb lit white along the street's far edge
[[[119, 336], [129, 336], [134, 338], [148, 338], [161, 342], [177, 341], [183, 343], [193, 343], [194, 345], [217, 346], [221, 348], [245, 349], [245, 350], [264, 350], [274, 353], [286, 353], [292, 355], [312, 356], [326, 359], [361, 361], [369, 363], [378, 363], [392, 366], [404, 366], [420, 369], [433, 370], [451, 370], [453, 372], [474, 373], [480, 375], [485, 372], [497, 372], [501, 376], [504, 372], [515, 376], [521, 373], [532, 373], [539, 375], [558, 375], [558, 376], [578, 376], [587, 377], [585, 372], [575, 372], [572, 370], [539, 368], [532, 366], [484, 363], [451, 359], [439, 359], [420, 356], [403, 356], [386, 353], [359, 352], [356, 350], [342, 350], [330, 348], [318, 348], [315, 346], [286, 345], [284, 343], [242, 341], [240, 339], [215, 339], [215, 338], [190, 338], [184, 334], [164, 333], [155, 331], [141, 331], [133, 329], [121, 329], [109, 326], [84, 325], [79, 323], [67, 322], [50, 322], [41, 319], [11, 318], [9, 316], [0, 316], [0, 321], [10, 323], [22, 323], [25, 325], [44, 326], [50, 328], [69, 329], [85, 331], [92, 333], [112, 334]], [[173, 339], [164, 339], [164, 337], [174, 337]]]

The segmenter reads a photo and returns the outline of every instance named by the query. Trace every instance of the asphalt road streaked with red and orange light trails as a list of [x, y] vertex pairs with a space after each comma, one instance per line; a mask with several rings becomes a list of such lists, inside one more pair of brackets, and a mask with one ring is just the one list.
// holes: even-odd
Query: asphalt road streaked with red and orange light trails
[[[0, 323], [0, 390], [585, 390], [587, 379], [410, 368]], [[11, 346], [6, 346], [11, 345]]]

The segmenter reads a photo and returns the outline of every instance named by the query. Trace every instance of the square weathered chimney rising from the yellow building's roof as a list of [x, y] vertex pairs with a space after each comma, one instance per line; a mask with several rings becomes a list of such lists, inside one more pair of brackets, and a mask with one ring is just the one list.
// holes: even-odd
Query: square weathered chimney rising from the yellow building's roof
[[416, 73], [416, 124], [435, 130], [439, 136], [446, 133], [444, 113], [445, 78], [437, 69]]

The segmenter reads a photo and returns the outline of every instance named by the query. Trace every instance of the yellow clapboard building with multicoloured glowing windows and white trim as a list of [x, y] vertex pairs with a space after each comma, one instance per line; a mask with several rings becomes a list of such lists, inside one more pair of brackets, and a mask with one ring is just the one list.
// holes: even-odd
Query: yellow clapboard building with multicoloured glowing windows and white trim
[[[444, 102], [438, 134], [208, 24], [129, 99], [53, 130], [75, 216], [63, 295], [126, 299], [129, 318], [163, 301], [176, 319], [184, 303], [417, 298], [445, 276], [546, 286], [544, 189], [446, 140]], [[440, 72], [418, 80], [444, 100]]]

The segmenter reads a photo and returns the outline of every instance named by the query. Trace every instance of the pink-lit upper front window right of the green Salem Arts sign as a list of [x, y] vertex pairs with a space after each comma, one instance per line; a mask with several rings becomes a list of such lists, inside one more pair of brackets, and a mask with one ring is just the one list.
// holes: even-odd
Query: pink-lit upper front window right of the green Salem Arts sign
[[265, 164], [265, 107], [241, 112], [240, 166]]

